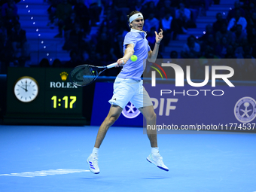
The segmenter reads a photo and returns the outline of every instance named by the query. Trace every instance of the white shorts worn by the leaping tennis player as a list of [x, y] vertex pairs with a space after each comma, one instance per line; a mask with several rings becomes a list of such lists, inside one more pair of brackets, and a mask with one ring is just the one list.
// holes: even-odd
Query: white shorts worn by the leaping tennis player
[[114, 94], [108, 101], [111, 105], [125, 108], [128, 102], [132, 102], [136, 108], [153, 105], [148, 92], [143, 87], [143, 81], [131, 78], [116, 78], [114, 81]]

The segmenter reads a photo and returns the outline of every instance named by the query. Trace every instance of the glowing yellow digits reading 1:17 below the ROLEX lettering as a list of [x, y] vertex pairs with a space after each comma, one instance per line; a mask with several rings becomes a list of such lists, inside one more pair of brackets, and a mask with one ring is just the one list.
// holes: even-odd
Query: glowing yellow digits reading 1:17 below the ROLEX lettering
[[51, 106], [53, 108], [57, 108], [58, 106], [62, 106], [62, 108], [75, 108], [77, 96], [64, 96], [62, 99], [58, 99], [57, 96], [53, 96], [51, 100]]

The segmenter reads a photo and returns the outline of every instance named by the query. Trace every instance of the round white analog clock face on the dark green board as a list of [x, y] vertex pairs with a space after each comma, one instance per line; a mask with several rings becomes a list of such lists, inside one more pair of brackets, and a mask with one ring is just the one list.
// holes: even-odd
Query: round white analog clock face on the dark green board
[[21, 102], [32, 102], [38, 96], [38, 82], [28, 76], [22, 77], [14, 84], [14, 95]]

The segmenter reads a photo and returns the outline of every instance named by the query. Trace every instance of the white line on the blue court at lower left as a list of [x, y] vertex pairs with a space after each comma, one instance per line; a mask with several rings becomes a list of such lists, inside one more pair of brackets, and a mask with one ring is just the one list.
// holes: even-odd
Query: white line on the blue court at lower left
[[85, 169], [49, 169], [35, 172], [19, 172], [19, 173], [11, 173], [11, 174], [1, 174], [0, 176], [14, 176], [14, 177], [41, 177], [47, 175], [64, 175], [69, 173], [77, 173], [77, 172], [90, 172], [90, 170]]

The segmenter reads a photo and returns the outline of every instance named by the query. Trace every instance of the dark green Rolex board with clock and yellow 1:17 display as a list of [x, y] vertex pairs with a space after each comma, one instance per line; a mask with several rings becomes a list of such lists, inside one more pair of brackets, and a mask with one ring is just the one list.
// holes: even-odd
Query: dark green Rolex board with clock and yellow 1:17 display
[[9, 68], [5, 123], [84, 124], [83, 90], [69, 68]]

